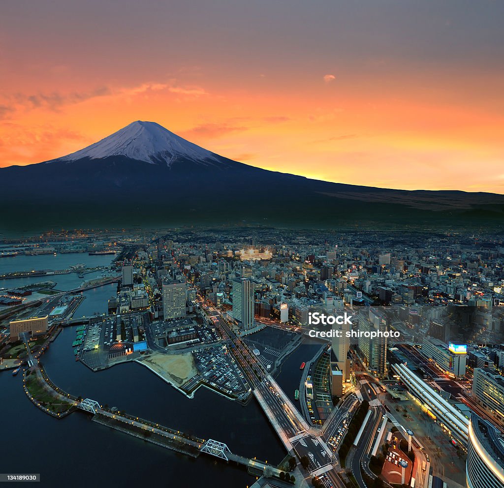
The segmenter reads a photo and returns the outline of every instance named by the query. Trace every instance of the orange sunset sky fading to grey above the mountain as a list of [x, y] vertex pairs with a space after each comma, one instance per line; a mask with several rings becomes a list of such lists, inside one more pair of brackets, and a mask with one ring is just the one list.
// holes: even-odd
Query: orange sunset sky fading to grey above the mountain
[[1, 17], [0, 166], [150, 120], [270, 170], [504, 193], [503, 2], [7, 0]]

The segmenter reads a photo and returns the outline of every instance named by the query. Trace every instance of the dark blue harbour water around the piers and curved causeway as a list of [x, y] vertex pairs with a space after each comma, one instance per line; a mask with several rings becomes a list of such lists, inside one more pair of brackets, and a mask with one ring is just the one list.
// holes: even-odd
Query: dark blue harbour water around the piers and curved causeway
[[[83, 254], [70, 256], [69, 261], [58, 262], [53, 267], [64, 268], [85, 262]], [[35, 258], [34, 265], [38, 269], [49, 268], [50, 261], [57, 258], [52, 255], [26, 257]], [[100, 263], [94, 261], [95, 257], [91, 258], [100, 265], [111, 262], [110, 256], [97, 257], [106, 261]], [[20, 262], [16, 259], [9, 259], [11, 266]], [[11, 266], [5, 272], [18, 270], [17, 266]], [[75, 283], [69, 277], [77, 278], [77, 286], [82, 282], [76, 273], [59, 275], [54, 277], [58, 283], [56, 288], [74, 287]], [[110, 284], [84, 292], [86, 299], [75, 316], [106, 312], [107, 299], [115, 294], [115, 289], [116, 284]], [[71, 347], [74, 338], [75, 327], [65, 328], [41, 358], [51, 380], [62, 389], [188, 434], [225, 442], [233, 452], [243, 456], [257, 456], [272, 464], [277, 464], [285, 456], [285, 448], [255, 399], [243, 407], [206, 388], [200, 388], [194, 399], [188, 399], [135, 363], [93, 373], [75, 361]], [[317, 347], [308, 341], [288, 357], [286, 367], [280, 373], [283, 383], [299, 382], [297, 363], [312, 355], [309, 351]], [[61, 479], [72, 479], [73, 486], [87, 486], [95, 482], [96, 472], [101, 473], [100, 484], [114, 484], [118, 474], [116, 469], [110, 470], [110, 466], [124, 469], [120, 475], [124, 486], [184, 479], [184, 486], [192, 487], [208, 483], [209, 479], [219, 479], [229, 486], [244, 487], [255, 480], [243, 468], [228, 466], [220, 460], [214, 461], [205, 455], [193, 460], [91, 423], [90, 417], [82, 412], [55, 420], [27, 400], [20, 375], [0, 374], [0, 390], [3, 398], [8, 400], [3, 402], [2, 408], [3, 418], [9, 419], [4, 423], [3, 437], [10, 439], [10, 449], [2, 456], [3, 465], [12, 472], [41, 473], [40, 486], [57, 486]], [[289, 396], [293, 394], [287, 393]], [[27, 456], [23, 455], [27, 449], [26, 441], [33, 446], [29, 449], [29, 465]], [[78, 467], [76, 460], [84, 450], [92, 453], [92, 469]]]

